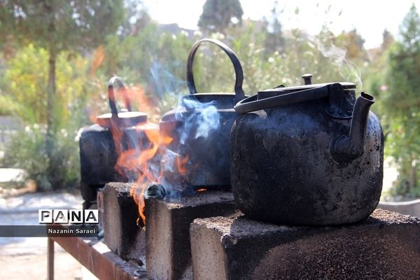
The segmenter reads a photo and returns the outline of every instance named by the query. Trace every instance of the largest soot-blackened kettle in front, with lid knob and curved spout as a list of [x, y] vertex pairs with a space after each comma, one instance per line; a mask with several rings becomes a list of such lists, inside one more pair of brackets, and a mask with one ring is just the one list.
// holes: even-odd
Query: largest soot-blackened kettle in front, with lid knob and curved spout
[[232, 190], [248, 217], [339, 225], [367, 218], [382, 188], [384, 137], [374, 97], [353, 83], [278, 87], [239, 102]]

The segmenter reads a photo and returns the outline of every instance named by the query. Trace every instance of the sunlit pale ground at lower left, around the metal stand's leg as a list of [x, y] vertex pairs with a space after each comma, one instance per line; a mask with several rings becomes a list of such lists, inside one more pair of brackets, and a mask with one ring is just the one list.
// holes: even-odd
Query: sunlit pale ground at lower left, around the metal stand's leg
[[[0, 225], [37, 224], [38, 209], [82, 207], [78, 190], [71, 193], [27, 193], [29, 190], [10, 192], [0, 188]], [[46, 279], [46, 237], [0, 237], [0, 264], [0, 279]], [[55, 279], [96, 278], [55, 244]]]

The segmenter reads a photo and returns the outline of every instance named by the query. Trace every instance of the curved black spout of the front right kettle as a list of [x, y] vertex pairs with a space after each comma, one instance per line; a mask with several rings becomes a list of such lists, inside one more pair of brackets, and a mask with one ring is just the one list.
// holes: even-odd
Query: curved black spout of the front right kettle
[[332, 157], [337, 162], [351, 162], [362, 155], [369, 109], [374, 102], [374, 97], [364, 92], [361, 92], [356, 99], [350, 133], [338, 137], [332, 147]]

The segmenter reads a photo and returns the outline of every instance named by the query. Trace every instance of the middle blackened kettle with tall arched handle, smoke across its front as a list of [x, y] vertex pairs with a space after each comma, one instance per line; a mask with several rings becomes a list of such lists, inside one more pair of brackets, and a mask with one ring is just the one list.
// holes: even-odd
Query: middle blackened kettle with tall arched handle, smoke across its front
[[[234, 93], [197, 93], [193, 62], [202, 43], [218, 45], [230, 58], [236, 76]], [[165, 178], [183, 172], [181, 182], [176, 183], [182, 188], [230, 188], [230, 129], [238, 115], [234, 106], [245, 97], [243, 80], [241, 63], [227, 45], [209, 38], [193, 45], [187, 63], [190, 94], [181, 97], [180, 106], [160, 121], [160, 133], [170, 139], [167, 147], [184, 163], [183, 170], [165, 170]]]

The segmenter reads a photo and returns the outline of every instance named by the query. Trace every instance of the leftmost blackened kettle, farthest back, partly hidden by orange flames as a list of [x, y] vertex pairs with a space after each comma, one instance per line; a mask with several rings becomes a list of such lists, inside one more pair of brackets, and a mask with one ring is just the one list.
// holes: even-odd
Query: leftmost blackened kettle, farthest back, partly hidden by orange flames
[[[125, 109], [118, 112], [114, 85], [122, 93]], [[118, 157], [127, 150], [140, 150], [149, 144], [144, 127], [158, 130], [158, 125], [148, 124], [148, 114], [132, 111], [127, 88], [118, 77], [108, 83], [111, 113], [97, 116], [97, 123], [85, 127], [80, 134], [80, 190], [85, 200], [84, 207], [94, 204], [97, 190], [109, 182], [124, 182], [132, 170], [117, 170]], [[145, 125], [145, 124], [148, 125]]]

